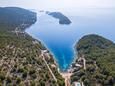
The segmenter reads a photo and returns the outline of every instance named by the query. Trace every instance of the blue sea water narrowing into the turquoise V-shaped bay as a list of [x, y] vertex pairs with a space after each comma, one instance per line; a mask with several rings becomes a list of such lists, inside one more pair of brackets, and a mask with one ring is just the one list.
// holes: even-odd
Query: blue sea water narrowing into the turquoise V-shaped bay
[[62, 11], [71, 25], [60, 25], [58, 20], [38, 12], [37, 22], [26, 30], [54, 55], [61, 70], [66, 70], [74, 57], [74, 46], [87, 34], [98, 34], [115, 42], [115, 9], [77, 9]]

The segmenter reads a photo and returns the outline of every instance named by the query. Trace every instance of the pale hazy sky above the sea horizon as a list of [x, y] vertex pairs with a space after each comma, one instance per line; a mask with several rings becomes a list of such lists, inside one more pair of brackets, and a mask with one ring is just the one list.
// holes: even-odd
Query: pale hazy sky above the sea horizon
[[115, 8], [115, 0], [0, 0], [0, 7], [6, 6], [37, 10]]

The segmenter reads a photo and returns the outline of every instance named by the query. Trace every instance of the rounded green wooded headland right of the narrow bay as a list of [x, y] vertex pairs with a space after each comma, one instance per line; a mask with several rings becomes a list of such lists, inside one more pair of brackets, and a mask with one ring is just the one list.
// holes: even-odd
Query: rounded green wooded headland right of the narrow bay
[[115, 85], [115, 43], [95, 34], [82, 37], [75, 46], [71, 83], [85, 86]]

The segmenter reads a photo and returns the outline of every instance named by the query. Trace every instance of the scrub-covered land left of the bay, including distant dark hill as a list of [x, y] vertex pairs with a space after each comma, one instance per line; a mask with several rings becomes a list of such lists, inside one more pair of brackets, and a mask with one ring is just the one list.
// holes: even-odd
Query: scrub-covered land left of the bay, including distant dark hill
[[51, 53], [25, 32], [36, 13], [0, 8], [0, 86], [65, 86]]

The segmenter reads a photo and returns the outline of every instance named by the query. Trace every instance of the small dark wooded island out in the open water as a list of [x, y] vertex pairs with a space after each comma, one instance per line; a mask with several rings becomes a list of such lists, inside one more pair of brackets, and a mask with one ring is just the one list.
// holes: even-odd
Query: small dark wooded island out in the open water
[[60, 12], [46, 12], [46, 14], [56, 18], [56, 19], [59, 19], [59, 24], [65, 24], [65, 25], [69, 25], [71, 24], [71, 20], [66, 17], [64, 14], [60, 13]]

